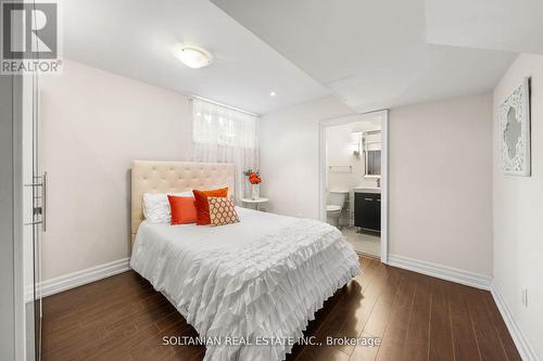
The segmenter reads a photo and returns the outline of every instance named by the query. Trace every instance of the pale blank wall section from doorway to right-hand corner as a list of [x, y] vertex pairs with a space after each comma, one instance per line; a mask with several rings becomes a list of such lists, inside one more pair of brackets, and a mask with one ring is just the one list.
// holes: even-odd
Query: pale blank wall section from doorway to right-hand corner
[[389, 115], [389, 253], [492, 274], [492, 95]]

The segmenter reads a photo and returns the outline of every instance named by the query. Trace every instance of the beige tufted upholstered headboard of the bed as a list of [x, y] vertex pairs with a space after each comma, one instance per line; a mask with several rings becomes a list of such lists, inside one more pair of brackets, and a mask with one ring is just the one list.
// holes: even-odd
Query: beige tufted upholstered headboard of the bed
[[131, 171], [131, 237], [143, 220], [143, 193], [177, 193], [212, 185], [228, 185], [235, 195], [233, 165], [225, 163], [190, 163], [134, 160]]

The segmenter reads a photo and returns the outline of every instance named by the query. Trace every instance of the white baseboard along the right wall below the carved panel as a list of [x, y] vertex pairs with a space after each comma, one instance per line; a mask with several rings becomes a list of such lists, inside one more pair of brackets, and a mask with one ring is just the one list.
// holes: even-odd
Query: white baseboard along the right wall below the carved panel
[[494, 301], [496, 302], [500, 313], [502, 313], [502, 319], [509, 331], [513, 341], [515, 343], [515, 346], [517, 346], [520, 358], [526, 361], [539, 360], [535, 350], [528, 341], [528, 338], [522, 333], [522, 330], [520, 330], [518, 323], [515, 321], [515, 317], [507, 306], [507, 302], [505, 301], [505, 298], [495, 281], [492, 282], [490, 292], [492, 293], [492, 297], [494, 297]]

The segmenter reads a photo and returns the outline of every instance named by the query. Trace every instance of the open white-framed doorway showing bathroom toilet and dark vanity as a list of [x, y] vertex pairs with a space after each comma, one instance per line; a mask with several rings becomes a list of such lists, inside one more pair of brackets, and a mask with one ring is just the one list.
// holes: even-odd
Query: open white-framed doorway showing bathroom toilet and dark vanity
[[319, 218], [388, 262], [388, 111], [320, 121]]

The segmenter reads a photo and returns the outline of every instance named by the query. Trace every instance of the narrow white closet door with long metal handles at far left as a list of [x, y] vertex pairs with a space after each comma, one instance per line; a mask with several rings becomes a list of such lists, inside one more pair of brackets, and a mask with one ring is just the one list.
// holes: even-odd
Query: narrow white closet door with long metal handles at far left
[[[37, 77], [35, 74], [17, 75], [14, 81], [14, 96], [16, 96], [14, 138], [17, 144], [14, 151], [14, 155], [16, 156], [14, 169], [17, 184], [15, 217], [17, 219], [16, 230], [20, 237], [20, 242], [16, 242], [14, 247], [16, 279], [14, 297], [16, 307], [16, 324], [14, 330], [16, 341], [15, 361], [27, 360], [31, 354], [35, 359], [38, 357], [37, 353], [40, 352], [41, 347], [41, 320], [38, 325], [36, 322], [37, 317], [41, 318], [41, 305], [39, 307], [39, 315], [35, 306], [36, 299], [41, 299], [39, 289], [41, 262], [36, 262], [36, 257], [39, 258], [41, 254], [41, 243], [39, 241], [36, 242], [35, 232], [42, 232], [42, 228], [41, 224], [30, 223], [35, 221], [33, 216], [34, 203], [31, 208], [28, 208], [28, 202], [35, 201], [35, 189], [29, 188], [29, 183], [42, 183], [42, 181], [38, 181], [35, 177], [36, 171], [38, 173], [41, 172], [40, 168], [36, 168], [39, 167], [39, 163], [36, 162], [39, 162], [37, 157], [41, 153], [39, 147], [37, 147], [39, 144], [35, 143], [36, 134], [40, 132], [37, 118], [39, 114]], [[45, 207], [43, 211], [46, 211]], [[28, 263], [28, 261], [31, 261], [31, 263]], [[31, 283], [27, 283], [27, 281], [30, 281], [27, 279], [27, 274], [31, 274]], [[31, 314], [28, 313], [28, 305], [30, 302], [33, 304]], [[29, 327], [30, 322], [31, 327]], [[39, 337], [37, 332], [39, 332]], [[28, 343], [30, 337], [33, 339], [31, 344]], [[40, 347], [37, 347], [37, 343], [40, 343]]]

